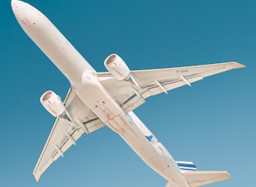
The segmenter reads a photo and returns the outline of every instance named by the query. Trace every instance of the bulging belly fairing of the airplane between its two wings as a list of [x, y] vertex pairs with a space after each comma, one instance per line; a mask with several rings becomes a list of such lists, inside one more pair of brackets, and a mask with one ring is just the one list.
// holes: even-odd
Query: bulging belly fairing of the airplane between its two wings
[[82, 83], [74, 84], [76, 94], [81, 101], [94, 112], [102, 122], [115, 132], [122, 132], [128, 124], [125, 120], [125, 113], [116, 104], [116, 101], [108, 94], [105, 88], [99, 83], [94, 73], [85, 70], [82, 76]]

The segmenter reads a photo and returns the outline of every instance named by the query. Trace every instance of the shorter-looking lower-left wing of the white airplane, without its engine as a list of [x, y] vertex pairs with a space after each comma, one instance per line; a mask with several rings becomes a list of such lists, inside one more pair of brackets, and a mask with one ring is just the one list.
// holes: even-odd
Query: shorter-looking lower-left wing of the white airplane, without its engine
[[52, 127], [52, 132], [45, 143], [44, 150], [41, 153], [37, 165], [34, 168], [34, 178], [38, 181], [42, 173], [56, 161], [59, 157], [63, 157], [63, 153], [70, 146], [76, 144], [76, 140], [86, 133], [94, 132], [105, 126], [101, 120], [90, 111], [80, 98], [76, 96], [73, 88], [69, 89], [69, 93], [64, 101], [66, 113], [69, 118], [57, 118]]

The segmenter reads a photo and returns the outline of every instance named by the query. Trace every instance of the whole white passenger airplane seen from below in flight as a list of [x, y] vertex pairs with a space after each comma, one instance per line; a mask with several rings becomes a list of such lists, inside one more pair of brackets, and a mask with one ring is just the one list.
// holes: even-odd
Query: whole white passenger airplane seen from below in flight
[[196, 171], [192, 162], [176, 162], [162, 143], [133, 114], [144, 100], [176, 87], [230, 69], [237, 62], [172, 69], [130, 71], [116, 54], [105, 59], [108, 72], [96, 72], [60, 31], [33, 6], [12, 0], [20, 26], [44, 54], [69, 79], [71, 88], [62, 103], [53, 91], [41, 96], [41, 104], [56, 117], [55, 124], [34, 168], [38, 182], [43, 172], [84, 133], [105, 125], [118, 133], [138, 156], [167, 180], [165, 187], [194, 187], [230, 178], [226, 171]]

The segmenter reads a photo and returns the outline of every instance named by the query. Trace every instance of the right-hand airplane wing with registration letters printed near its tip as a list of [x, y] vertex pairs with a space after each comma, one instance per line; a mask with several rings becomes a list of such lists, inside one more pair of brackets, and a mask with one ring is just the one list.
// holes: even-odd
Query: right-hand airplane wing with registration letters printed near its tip
[[166, 93], [180, 86], [194, 83], [230, 69], [244, 68], [238, 62], [224, 62], [211, 65], [194, 65], [171, 69], [150, 69], [130, 71], [130, 79], [118, 80], [110, 72], [99, 72], [98, 79], [108, 93], [129, 112], [144, 103], [144, 99]]

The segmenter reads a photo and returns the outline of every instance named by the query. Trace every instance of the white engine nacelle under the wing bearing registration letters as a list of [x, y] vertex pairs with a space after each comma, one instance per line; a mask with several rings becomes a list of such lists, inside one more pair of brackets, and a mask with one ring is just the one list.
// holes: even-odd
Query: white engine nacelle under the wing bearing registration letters
[[105, 59], [104, 65], [106, 69], [108, 69], [108, 72], [110, 72], [112, 76], [115, 76], [116, 79], [129, 79], [130, 69], [119, 55], [109, 55]]

